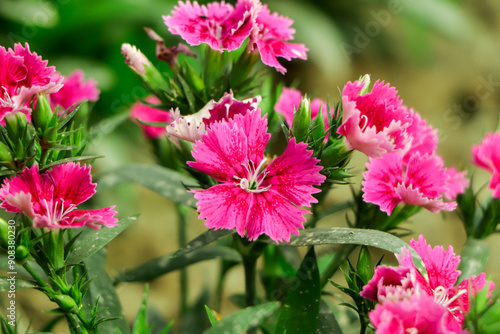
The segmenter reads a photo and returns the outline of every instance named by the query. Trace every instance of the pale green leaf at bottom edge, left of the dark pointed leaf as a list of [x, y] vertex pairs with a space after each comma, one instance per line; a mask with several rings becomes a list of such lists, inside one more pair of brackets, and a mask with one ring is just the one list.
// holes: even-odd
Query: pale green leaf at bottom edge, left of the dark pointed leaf
[[269, 302], [257, 306], [247, 307], [243, 310], [234, 312], [221, 321], [216, 323], [212, 328], [207, 329], [204, 334], [235, 334], [257, 326], [262, 320], [271, 316], [280, 307], [279, 302]]

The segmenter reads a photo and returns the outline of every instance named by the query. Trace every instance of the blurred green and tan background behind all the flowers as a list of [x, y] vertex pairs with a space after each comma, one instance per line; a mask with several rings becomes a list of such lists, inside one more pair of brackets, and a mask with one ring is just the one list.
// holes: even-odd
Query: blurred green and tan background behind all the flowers
[[[202, 3], [203, 1], [200, 1]], [[231, 2], [231, 1], [227, 1]], [[180, 39], [163, 24], [175, 5], [168, 0], [0, 0], [0, 45], [28, 42], [32, 51], [63, 74], [76, 68], [98, 81], [100, 100], [92, 121], [126, 113], [145, 89], [124, 64], [122, 43], [136, 45], [154, 60], [155, 44], [143, 27], [151, 27], [167, 45]], [[270, 69], [277, 80], [299, 82], [309, 96], [337, 100], [338, 87], [365, 73], [395, 86], [404, 103], [418, 110], [439, 129], [439, 153], [448, 166], [475, 171], [476, 188], [489, 175], [470, 164], [470, 146], [493, 131], [500, 114], [500, 2], [496, 0], [269, 0], [271, 10], [295, 23], [296, 41], [309, 47], [309, 60], [284, 64], [286, 76]], [[154, 61], [153, 61], [154, 62]], [[156, 63], [155, 63], [156, 64]], [[159, 64], [158, 64], [159, 65]], [[130, 121], [98, 141], [93, 153], [106, 156], [94, 174], [128, 162], [152, 162], [147, 142]], [[359, 187], [366, 158], [355, 155], [351, 166]], [[469, 174], [470, 176], [470, 174]], [[489, 196], [483, 191], [484, 196]], [[329, 202], [349, 196], [348, 187], [332, 191]], [[121, 217], [141, 213], [139, 221], [109, 247], [108, 267], [116, 274], [149, 258], [177, 249], [173, 205], [143, 188], [123, 185], [99, 194], [102, 206], [117, 205]], [[344, 226], [345, 213], [329, 217], [320, 226]], [[196, 214], [189, 222], [189, 237], [205, 230]], [[405, 227], [423, 233], [430, 244], [453, 245], [457, 252], [465, 233], [454, 213], [420, 212]], [[407, 238], [408, 239], [408, 238]], [[500, 238], [488, 239], [491, 258], [487, 275], [500, 284]], [[328, 252], [329, 249], [322, 249]], [[239, 270], [239, 269], [238, 269]], [[243, 291], [241, 272], [228, 277], [226, 294]], [[213, 287], [216, 262], [190, 268], [190, 298]], [[151, 304], [167, 318], [178, 315], [178, 277], [167, 275], [151, 285]], [[129, 319], [140, 304], [142, 285], [118, 288]], [[44, 296], [20, 293], [24, 321], [50, 309]], [[232, 310], [230, 302], [222, 312]], [[34, 327], [42, 320], [35, 320]]]

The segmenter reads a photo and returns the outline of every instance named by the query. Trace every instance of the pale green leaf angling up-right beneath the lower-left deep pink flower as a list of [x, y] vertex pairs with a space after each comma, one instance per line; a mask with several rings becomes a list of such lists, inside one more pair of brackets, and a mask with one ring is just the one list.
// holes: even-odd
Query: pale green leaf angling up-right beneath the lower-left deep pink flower
[[97, 253], [97, 251], [106, 246], [118, 234], [122, 233], [130, 224], [136, 221], [137, 216], [121, 219], [115, 227], [102, 227], [98, 231], [88, 232], [84, 237], [75, 242], [75, 247], [69, 254], [66, 264], [78, 264]]

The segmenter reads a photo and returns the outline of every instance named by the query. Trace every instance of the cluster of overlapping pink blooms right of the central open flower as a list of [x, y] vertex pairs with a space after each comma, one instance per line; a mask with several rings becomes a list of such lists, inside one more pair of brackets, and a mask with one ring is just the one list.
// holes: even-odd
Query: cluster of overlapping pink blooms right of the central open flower
[[394, 87], [377, 81], [368, 92], [366, 78], [342, 90], [338, 129], [348, 148], [369, 156], [363, 199], [389, 215], [399, 203], [433, 213], [454, 210], [453, 200], [469, 185], [465, 172], [444, 167], [436, 130], [402, 104]]

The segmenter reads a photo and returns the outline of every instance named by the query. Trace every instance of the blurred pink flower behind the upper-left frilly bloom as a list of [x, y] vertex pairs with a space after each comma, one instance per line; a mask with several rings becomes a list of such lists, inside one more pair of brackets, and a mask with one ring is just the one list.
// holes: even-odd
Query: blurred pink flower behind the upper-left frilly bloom
[[61, 80], [63, 87], [58, 92], [49, 95], [52, 109], [55, 109], [56, 106], [62, 107], [63, 110], [60, 113], [72, 105], [85, 100], [97, 101], [99, 98], [97, 82], [93, 79], [85, 81], [82, 70], [76, 70], [67, 77], [56, 72], [51, 77], [53, 82], [61, 82]]

